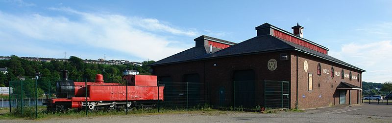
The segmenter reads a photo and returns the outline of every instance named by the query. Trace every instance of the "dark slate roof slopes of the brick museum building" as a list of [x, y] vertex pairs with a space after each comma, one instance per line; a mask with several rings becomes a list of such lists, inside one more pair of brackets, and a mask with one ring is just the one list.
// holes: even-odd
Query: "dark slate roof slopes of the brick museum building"
[[326, 54], [317, 52], [307, 47], [271, 35], [257, 36], [221, 50], [218, 48], [213, 48], [213, 53], [208, 53], [209, 52], [208, 46], [196, 46], [188, 50], [185, 50], [183, 52], [172, 55], [163, 60], [154, 62], [150, 64], [150, 66], [168, 64], [168, 63], [177, 63], [177, 62], [190, 62], [190, 61], [202, 60], [202, 59], [215, 59], [215, 58], [230, 57], [236, 55], [256, 54], [262, 52], [283, 51], [283, 50], [297, 50], [299, 52], [313, 55], [330, 62], [335, 62], [365, 72], [365, 70], [361, 68], [358, 68], [354, 65], [338, 60], [334, 57], [328, 56]]

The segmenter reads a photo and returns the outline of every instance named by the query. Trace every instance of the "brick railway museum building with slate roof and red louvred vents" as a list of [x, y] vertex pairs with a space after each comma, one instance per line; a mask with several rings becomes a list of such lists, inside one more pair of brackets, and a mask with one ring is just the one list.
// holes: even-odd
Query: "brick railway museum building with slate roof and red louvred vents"
[[196, 88], [202, 93], [195, 97], [214, 106], [308, 109], [360, 103], [366, 71], [304, 39], [302, 26], [292, 29], [264, 23], [256, 27], [256, 37], [238, 44], [200, 36], [195, 47], [151, 64], [152, 74], [165, 83], [165, 94], [182, 93], [168, 90], [175, 82], [200, 83]]

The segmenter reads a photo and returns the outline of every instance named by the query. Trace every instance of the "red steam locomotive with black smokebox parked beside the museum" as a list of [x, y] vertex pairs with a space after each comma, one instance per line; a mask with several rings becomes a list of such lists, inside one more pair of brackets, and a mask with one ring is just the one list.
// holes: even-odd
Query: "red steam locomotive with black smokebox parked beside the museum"
[[73, 82], [68, 80], [68, 71], [65, 70], [63, 80], [56, 83], [57, 98], [48, 99], [47, 109], [50, 112], [72, 108], [125, 109], [152, 106], [158, 100], [163, 101], [164, 86], [157, 86], [156, 76], [125, 75], [123, 79], [128, 82], [128, 89], [121, 83], [103, 82], [101, 74], [96, 75], [95, 82]]

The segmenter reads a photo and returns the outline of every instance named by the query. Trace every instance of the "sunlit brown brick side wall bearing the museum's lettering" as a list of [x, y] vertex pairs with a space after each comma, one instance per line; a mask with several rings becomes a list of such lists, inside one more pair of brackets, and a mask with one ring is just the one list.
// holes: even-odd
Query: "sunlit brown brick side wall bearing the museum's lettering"
[[[308, 71], [304, 70], [304, 61], [308, 62]], [[291, 72], [291, 81], [292, 81], [292, 102], [291, 106], [294, 107], [296, 101], [296, 53], [292, 53], [291, 55], [292, 61], [292, 72]], [[321, 65], [321, 75], [317, 75], [317, 65], [320, 63]], [[340, 84], [341, 81], [347, 82], [356, 86], [361, 86], [361, 80], [358, 82], [357, 80], [349, 78], [342, 79], [341, 76], [331, 77], [331, 67], [333, 66], [335, 72], [341, 72], [342, 69], [344, 73], [352, 72], [352, 75], [357, 76], [358, 72], [355, 70], [344, 67], [342, 65], [327, 62], [325, 60], [321, 60], [309, 55], [299, 54], [298, 56], [298, 108], [307, 109], [307, 108], [317, 108], [317, 107], [326, 107], [330, 105], [339, 104], [339, 90], [336, 90], [336, 87]], [[324, 70], [329, 70], [329, 72], [324, 73]], [[327, 74], [328, 73], [328, 74]], [[308, 74], [313, 74], [313, 90], [308, 91]], [[361, 75], [361, 73], [359, 73]], [[362, 79], [362, 78], [359, 78]], [[319, 86], [320, 84], [320, 86]], [[342, 90], [345, 91], [345, 90]], [[302, 96], [305, 95], [305, 98]], [[319, 97], [321, 96], [321, 97]], [[351, 90], [351, 104], [357, 103], [357, 90]], [[348, 104], [348, 91], [346, 94], [346, 103]]]

